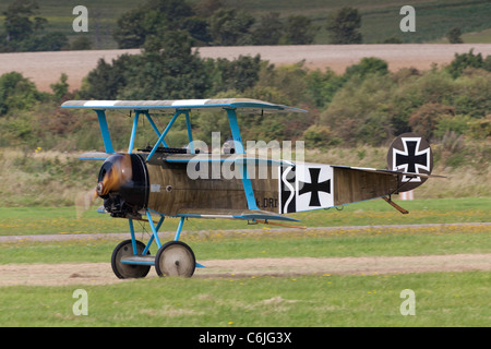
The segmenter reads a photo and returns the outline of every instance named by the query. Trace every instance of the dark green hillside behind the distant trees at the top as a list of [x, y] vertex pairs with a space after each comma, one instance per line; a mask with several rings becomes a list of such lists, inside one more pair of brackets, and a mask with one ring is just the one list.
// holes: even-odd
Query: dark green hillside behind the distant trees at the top
[[[0, 13], [11, 1], [0, 3]], [[40, 15], [48, 20], [48, 31], [59, 31], [74, 39], [80, 35], [87, 36], [94, 49], [113, 49], [117, 44], [111, 33], [118, 17], [135, 8], [142, 1], [132, 0], [84, 0], [88, 9], [89, 32], [74, 33], [72, 9], [81, 4], [79, 0], [43, 0], [38, 1]], [[188, 0], [197, 3], [199, 0]], [[489, 0], [420, 0], [410, 1], [416, 9], [416, 32], [402, 33], [399, 22], [404, 17], [399, 14], [402, 1], [390, 0], [224, 0], [227, 8], [243, 10], [252, 13], [256, 19], [268, 12], [279, 12], [280, 17], [291, 14], [310, 16], [320, 26], [314, 44], [328, 44], [325, 29], [327, 14], [342, 7], [352, 7], [362, 16], [361, 34], [364, 44], [383, 43], [386, 39], [399, 39], [403, 43], [427, 43], [440, 40], [453, 27], [459, 27], [463, 34], [482, 32], [491, 28], [491, 4]], [[2, 22], [0, 16], [0, 22]], [[2, 23], [1, 23], [2, 25]], [[1, 29], [0, 29], [1, 32]], [[463, 36], [466, 41], [466, 35]], [[470, 39], [469, 39], [470, 40]], [[491, 43], [490, 35], [471, 37], [471, 43]]]

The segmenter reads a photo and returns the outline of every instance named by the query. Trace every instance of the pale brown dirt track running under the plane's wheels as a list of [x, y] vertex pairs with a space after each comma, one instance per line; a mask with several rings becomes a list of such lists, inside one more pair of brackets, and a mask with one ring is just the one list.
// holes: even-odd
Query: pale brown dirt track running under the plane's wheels
[[[291, 257], [200, 261], [193, 277], [376, 275], [431, 272], [491, 270], [491, 253], [373, 257]], [[147, 277], [157, 277], [152, 268]], [[0, 287], [109, 285], [123, 282], [109, 263], [0, 265]]]

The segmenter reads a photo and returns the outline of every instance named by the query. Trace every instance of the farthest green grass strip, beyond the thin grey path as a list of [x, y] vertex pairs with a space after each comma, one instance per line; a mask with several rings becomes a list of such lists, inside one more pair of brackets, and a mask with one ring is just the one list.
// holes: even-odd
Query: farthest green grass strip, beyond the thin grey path
[[[415, 201], [394, 200], [409, 210], [402, 215], [382, 200], [373, 200], [336, 208], [320, 209], [290, 215], [301, 220], [298, 226], [342, 227], [375, 225], [416, 225], [444, 222], [481, 222], [491, 217], [491, 197], [427, 198]], [[0, 236], [43, 233], [125, 232], [125, 219], [97, 214], [96, 207], [76, 218], [75, 207], [0, 207]], [[177, 218], [168, 218], [161, 231], [175, 231]], [[147, 225], [137, 224], [137, 231], [149, 231]], [[270, 229], [271, 225], [248, 225], [228, 219], [189, 219], [184, 231], [227, 229]], [[287, 228], [286, 228], [287, 229]]]

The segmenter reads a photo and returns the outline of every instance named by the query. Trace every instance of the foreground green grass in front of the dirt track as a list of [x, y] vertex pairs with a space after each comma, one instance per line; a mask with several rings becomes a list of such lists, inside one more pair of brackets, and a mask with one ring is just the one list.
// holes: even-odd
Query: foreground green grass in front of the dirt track
[[[491, 273], [145, 279], [4, 287], [1, 326], [490, 326]], [[88, 315], [75, 316], [76, 288]], [[415, 291], [416, 315], [399, 312]], [[197, 341], [197, 339], [196, 339]]]

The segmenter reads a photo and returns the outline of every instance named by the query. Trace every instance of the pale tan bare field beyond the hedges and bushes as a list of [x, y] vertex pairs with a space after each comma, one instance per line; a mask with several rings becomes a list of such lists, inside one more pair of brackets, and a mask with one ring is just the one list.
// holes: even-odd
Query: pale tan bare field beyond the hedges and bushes
[[[404, 67], [428, 70], [432, 63], [447, 64], [455, 52], [491, 55], [490, 44], [406, 44], [406, 45], [309, 45], [309, 46], [239, 46], [203, 47], [199, 49], [203, 58], [235, 59], [239, 56], [261, 55], [275, 64], [292, 64], [304, 60], [309, 69], [330, 67], [343, 73], [346, 67], [355, 64], [363, 57], [379, 57], [388, 62], [388, 68], [397, 71]], [[0, 75], [17, 71], [31, 79], [40, 91], [51, 92], [49, 85], [57, 82], [61, 73], [69, 75], [70, 88], [77, 89], [82, 79], [104, 58], [107, 62], [123, 53], [135, 55], [132, 50], [91, 50], [61, 52], [1, 53]]]

